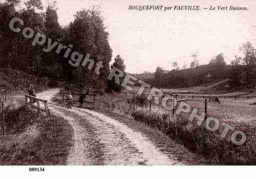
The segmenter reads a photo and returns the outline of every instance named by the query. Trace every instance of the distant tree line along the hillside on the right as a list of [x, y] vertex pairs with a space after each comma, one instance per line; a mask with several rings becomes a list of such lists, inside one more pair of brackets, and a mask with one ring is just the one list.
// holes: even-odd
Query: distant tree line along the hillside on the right
[[226, 64], [224, 54], [220, 53], [207, 65], [199, 65], [197, 55], [193, 55], [190, 68], [179, 69], [178, 63], [174, 62], [174, 68], [164, 73], [163, 68], [158, 66], [154, 78], [146, 82], [160, 88], [182, 88], [229, 78], [231, 88], [255, 88], [256, 49], [251, 42], [246, 42], [240, 50], [244, 55], [235, 56], [230, 65]]

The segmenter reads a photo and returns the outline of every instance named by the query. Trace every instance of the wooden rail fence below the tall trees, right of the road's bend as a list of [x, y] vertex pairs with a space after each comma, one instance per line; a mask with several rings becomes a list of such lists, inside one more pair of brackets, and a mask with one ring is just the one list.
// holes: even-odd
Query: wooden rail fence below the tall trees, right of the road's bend
[[[72, 94], [72, 97], [73, 97], [72, 101], [74, 101], [74, 102], [79, 102], [79, 100], [77, 100], [77, 97], [80, 97], [81, 93], [76, 93], [75, 91], [72, 91], [71, 94]], [[64, 90], [62, 90], [62, 89], [60, 89], [59, 95], [60, 95], [62, 101], [64, 101], [64, 102], [67, 101], [68, 92], [66, 92], [66, 91], [64, 91]], [[86, 98], [88, 98], [88, 97], [89, 97], [91, 100], [86, 99]], [[91, 104], [91, 105], [92, 105], [92, 109], [94, 109], [94, 108], [95, 108], [95, 98], [96, 98], [96, 94], [92, 94], [92, 93], [86, 94], [86, 95], [85, 95], [84, 103], [85, 103], [85, 104]]]

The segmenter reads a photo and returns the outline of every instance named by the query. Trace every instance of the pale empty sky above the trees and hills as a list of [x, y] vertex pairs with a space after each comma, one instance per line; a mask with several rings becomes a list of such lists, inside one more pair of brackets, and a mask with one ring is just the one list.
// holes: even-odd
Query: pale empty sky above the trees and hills
[[[0, 0], [2, 1], [2, 0]], [[44, 6], [52, 0], [42, 0]], [[193, 53], [207, 64], [224, 53], [227, 64], [240, 47], [251, 41], [256, 46], [255, 0], [56, 0], [58, 19], [67, 25], [82, 8], [100, 5], [109, 32], [113, 59], [120, 54], [129, 73], [154, 72], [157, 66], [173, 69], [190, 65]], [[137, 11], [129, 5], [246, 6], [246, 11]], [[112, 60], [113, 60], [112, 59]]]

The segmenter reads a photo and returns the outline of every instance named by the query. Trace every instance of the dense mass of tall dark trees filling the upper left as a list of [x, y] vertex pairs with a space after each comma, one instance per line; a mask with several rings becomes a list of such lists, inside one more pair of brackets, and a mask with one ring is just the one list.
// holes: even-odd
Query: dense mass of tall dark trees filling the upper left
[[[42, 10], [41, 0], [26, 0], [25, 8], [15, 10], [19, 0], [7, 0], [0, 3], [0, 66], [33, 73], [38, 76], [64, 78], [78, 85], [88, 84], [95, 88], [104, 89], [107, 85], [109, 62], [112, 49], [109, 45], [108, 32], [103, 23], [100, 11], [96, 8], [77, 11], [75, 19], [68, 26], [61, 27], [58, 22], [56, 2], [48, 4], [46, 12]], [[52, 39], [68, 46], [72, 44], [72, 52], [78, 51], [82, 55], [89, 53], [95, 63], [92, 69], [74, 68], [69, 63], [70, 55], [64, 58], [65, 50], [56, 54], [56, 48], [51, 52], [43, 52], [43, 47], [32, 46], [33, 38], [26, 39], [22, 33], [15, 33], [9, 29], [12, 17], [19, 17], [24, 21], [24, 27], [30, 27], [35, 33], [41, 32]], [[71, 53], [70, 53], [71, 54]], [[96, 74], [96, 64], [102, 61], [103, 67]]]

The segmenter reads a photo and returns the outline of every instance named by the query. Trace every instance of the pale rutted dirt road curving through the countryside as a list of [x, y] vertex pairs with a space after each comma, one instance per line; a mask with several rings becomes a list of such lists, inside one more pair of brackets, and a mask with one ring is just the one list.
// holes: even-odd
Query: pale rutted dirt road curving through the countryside
[[51, 102], [59, 89], [37, 94], [49, 101], [51, 113], [73, 127], [73, 148], [67, 165], [182, 165], [167, 157], [152, 142], [119, 121], [80, 108], [66, 109]]

